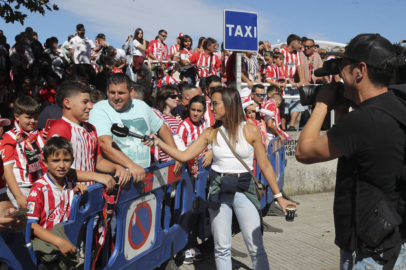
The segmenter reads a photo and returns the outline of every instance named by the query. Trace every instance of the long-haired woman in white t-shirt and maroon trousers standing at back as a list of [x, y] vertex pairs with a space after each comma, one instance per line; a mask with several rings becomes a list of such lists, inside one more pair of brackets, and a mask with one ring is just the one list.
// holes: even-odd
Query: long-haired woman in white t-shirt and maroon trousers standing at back
[[132, 71], [136, 74], [138, 70], [143, 70], [147, 73], [147, 80], [152, 81], [152, 70], [144, 63], [145, 50], [148, 48], [148, 45], [143, 36], [143, 30], [137, 28], [134, 32], [134, 39], [132, 40]]

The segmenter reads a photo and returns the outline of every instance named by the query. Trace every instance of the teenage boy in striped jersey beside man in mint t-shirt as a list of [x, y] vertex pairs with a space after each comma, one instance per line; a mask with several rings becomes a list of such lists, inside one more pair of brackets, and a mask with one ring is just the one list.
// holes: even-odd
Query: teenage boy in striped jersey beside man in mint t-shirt
[[[89, 119], [89, 112], [93, 108], [89, 92], [86, 85], [78, 82], [62, 83], [59, 86], [56, 102], [62, 108], [63, 116], [52, 125], [47, 138], [61, 136], [71, 142], [75, 157], [71, 166], [73, 169], [114, 173], [114, 176], [120, 177], [120, 185], [124, 186], [130, 181], [130, 173], [102, 157], [95, 127], [84, 122]], [[98, 174], [97, 177], [104, 177], [104, 174]], [[86, 182], [86, 185], [91, 184], [94, 182]]]

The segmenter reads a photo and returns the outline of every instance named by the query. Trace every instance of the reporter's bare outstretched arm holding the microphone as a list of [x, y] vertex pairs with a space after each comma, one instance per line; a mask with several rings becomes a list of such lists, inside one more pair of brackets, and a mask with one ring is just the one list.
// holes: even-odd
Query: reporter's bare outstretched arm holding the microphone
[[148, 145], [150, 147], [159, 145], [159, 147], [170, 157], [181, 163], [185, 163], [200, 155], [207, 147], [209, 134], [208, 130], [211, 130], [211, 128], [207, 128], [206, 130], [204, 130], [202, 134], [200, 134], [199, 138], [197, 138], [195, 142], [193, 142], [188, 148], [186, 148], [185, 151], [180, 151], [176, 147], [167, 145], [155, 135], [149, 136], [150, 138], [155, 138], [155, 142], [153, 144], [151, 142], [144, 142], [144, 145]]

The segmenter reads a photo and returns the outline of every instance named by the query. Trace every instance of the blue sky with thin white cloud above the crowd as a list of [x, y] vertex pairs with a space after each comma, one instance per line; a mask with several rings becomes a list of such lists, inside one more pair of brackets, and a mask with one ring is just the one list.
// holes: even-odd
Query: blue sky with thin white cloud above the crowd
[[41, 43], [56, 36], [62, 44], [69, 34], [76, 33], [76, 24], [83, 23], [86, 36], [94, 40], [98, 33], [103, 33], [114, 47], [121, 48], [127, 36], [134, 35], [138, 27], [143, 29], [146, 40], [153, 40], [158, 30], [166, 30], [168, 47], [183, 32], [192, 37], [196, 47], [200, 36], [211, 36], [222, 42], [224, 9], [257, 12], [259, 39], [269, 40], [270, 44], [276, 44], [278, 39], [286, 42], [292, 33], [340, 43], [347, 43], [361, 33], [380, 33], [391, 43], [406, 40], [402, 31], [405, 0], [51, 0], [51, 3], [57, 4], [60, 10], [46, 11], [45, 16], [27, 13], [24, 26], [3, 21], [0, 29], [7, 42], [13, 45], [14, 36], [30, 26], [38, 33]]

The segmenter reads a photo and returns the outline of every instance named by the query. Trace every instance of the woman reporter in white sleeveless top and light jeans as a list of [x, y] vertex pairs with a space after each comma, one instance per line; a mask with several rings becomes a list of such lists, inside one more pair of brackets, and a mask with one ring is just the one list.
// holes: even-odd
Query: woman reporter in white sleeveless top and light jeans
[[[218, 87], [212, 91], [210, 110], [216, 122], [200, 134], [199, 138], [185, 151], [179, 151], [166, 145], [160, 139], [145, 142], [145, 145], [159, 145], [169, 156], [179, 162], [186, 162], [212, 145], [213, 163], [209, 173], [209, 198], [207, 207], [210, 214], [212, 234], [214, 236], [214, 257], [217, 269], [232, 269], [231, 265], [231, 217], [232, 212], [238, 219], [246, 247], [253, 262], [253, 269], [269, 269], [268, 257], [263, 247], [261, 225], [262, 215], [254, 180], [250, 172], [235, 158], [220, 130], [229, 140], [237, 155], [253, 170], [253, 157], [261, 169], [263, 176], [275, 199], [284, 213], [285, 206], [296, 204], [285, 200], [276, 183], [274, 170], [263, 147], [262, 135], [257, 126], [247, 123], [240, 102], [238, 91], [233, 88]], [[227, 186], [222, 187], [222, 182]]]

